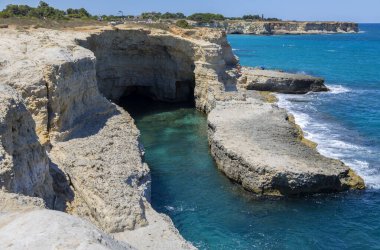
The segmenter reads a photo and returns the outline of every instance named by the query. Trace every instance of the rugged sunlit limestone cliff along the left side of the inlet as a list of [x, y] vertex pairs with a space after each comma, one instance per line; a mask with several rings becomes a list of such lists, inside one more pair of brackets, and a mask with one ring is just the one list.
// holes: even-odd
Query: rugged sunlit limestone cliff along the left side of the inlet
[[[2, 31], [0, 86], [13, 91], [9, 99], [20, 96], [15, 99], [18, 106], [4, 105], [1, 113], [2, 186], [45, 202], [53, 196], [56, 209], [87, 218], [106, 232], [128, 234], [128, 230], [154, 223], [146, 218], [147, 209], [154, 214], [152, 220], [162, 215], [144, 205], [150, 199], [150, 173], [142, 162], [139, 131], [127, 112], [99, 92], [95, 56], [78, 45], [78, 40], [101, 32]], [[1, 100], [8, 102], [7, 97]], [[12, 125], [19, 130], [13, 131]], [[17, 164], [12, 166], [14, 160]], [[28, 176], [21, 175], [18, 169], [23, 168]], [[12, 171], [21, 177], [13, 181]], [[9, 199], [9, 195], [4, 198]], [[175, 241], [192, 247], [167, 220], [160, 223], [167, 235], [161, 239], [163, 246]], [[146, 237], [160, 233], [151, 231]]]

